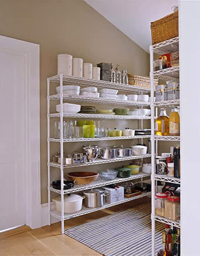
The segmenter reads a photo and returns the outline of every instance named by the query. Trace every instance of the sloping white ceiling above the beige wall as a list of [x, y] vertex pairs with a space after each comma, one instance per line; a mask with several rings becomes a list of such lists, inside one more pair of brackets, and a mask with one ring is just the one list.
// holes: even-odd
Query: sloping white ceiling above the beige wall
[[172, 13], [171, 7], [178, 5], [178, 0], [85, 1], [147, 52], [151, 44], [150, 22]]

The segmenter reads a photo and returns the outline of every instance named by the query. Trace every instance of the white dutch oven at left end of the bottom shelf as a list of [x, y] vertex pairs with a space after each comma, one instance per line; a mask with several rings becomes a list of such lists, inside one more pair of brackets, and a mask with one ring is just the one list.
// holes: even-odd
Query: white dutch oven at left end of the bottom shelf
[[[74, 213], [79, 212], [82, 208], [83, 199], [85, 196], [79, 196], [76, 194], [65, 195], [64, 196], [64, 213]], [[61, 197], [57, 196], [52, 199], [56, 203], [57, 212], [61, 212]]]

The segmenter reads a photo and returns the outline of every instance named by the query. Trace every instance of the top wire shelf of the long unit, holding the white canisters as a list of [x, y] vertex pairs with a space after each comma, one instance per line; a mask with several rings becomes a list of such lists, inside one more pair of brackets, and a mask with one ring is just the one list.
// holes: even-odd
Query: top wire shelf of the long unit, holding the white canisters
[[[60, 83], [60, 75], [49, 77], [50, 82]], [[88, 86], [95, 86], [99, 89], [116, 89], [122, 92], [143, 92], [148, 93], [150, 92], [150, 88], [144, 88], [140, 86], [133, 86], [130, 84], [119, 84], [119, 83], [112, 83], [103, 80], [95, 80], [89, 79], [86, 77], [76, 77], [76, 76], [67, 76], [63, 74], [63, 83], [67, 84], [76, 84], [81, 87], [88, 87]]]

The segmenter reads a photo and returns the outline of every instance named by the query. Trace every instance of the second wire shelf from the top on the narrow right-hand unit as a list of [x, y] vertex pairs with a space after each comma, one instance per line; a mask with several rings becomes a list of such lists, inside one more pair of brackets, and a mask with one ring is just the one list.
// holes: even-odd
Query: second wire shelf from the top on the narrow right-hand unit
[[179, 66], [169, 67], [168, 69], [161, 69], [153, 72], [154, 78], [162, 80], [179, 80]]

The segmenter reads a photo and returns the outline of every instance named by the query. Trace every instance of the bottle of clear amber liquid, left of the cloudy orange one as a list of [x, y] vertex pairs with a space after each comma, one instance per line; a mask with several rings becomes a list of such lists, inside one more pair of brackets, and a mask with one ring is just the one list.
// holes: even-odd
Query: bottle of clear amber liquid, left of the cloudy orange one
[[155, 132], [158, 136], [169, 135], [169, 117], [166, 109], [160, 109], [160, 116], [156, 119]]

